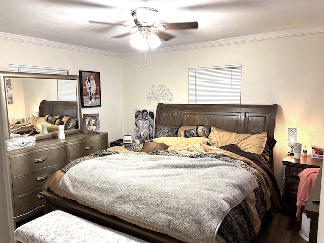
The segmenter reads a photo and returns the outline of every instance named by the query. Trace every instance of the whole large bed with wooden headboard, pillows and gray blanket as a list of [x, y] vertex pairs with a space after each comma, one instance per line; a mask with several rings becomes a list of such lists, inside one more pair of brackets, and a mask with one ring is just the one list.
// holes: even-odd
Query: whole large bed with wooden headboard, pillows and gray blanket
[[149, 242], [250, 242], [281, 208], [276, 110], [160, 103], [153, 142], [72, 161], [44, 185], [45, 213], [60, 209]]

